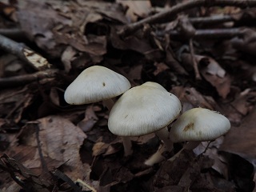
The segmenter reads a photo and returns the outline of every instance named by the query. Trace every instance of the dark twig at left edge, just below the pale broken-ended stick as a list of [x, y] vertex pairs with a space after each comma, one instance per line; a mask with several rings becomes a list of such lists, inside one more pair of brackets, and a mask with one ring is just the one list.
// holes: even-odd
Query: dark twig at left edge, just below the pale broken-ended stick
[[35, 82], [43, 78], [54, 78], [57, 72], [58, 70], [45, 70], [38, 71], [34, 74], [24, 74], [10, 78], [0, 78], [0, 88], [23, 86], [30, 82]]

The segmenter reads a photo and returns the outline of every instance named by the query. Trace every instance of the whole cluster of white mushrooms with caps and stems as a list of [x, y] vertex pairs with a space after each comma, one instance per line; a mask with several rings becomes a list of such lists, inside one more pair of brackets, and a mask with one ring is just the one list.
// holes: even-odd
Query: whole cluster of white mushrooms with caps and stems
[[[112, 98], [121, 94], [114, 103]], [[145, 82], [130, 89], [127, 78], [104, 66], [83, 70], [66, 88], [64, 98], [70, 105], [102, 101], [110, 110], [110, 132], [122, 138], [125, 156], [133, 153], [130, 137], [156, 134], [163, 145], [146, 160], [147, 166], [162, 162], [162, 153], [173, 150], [174, 142], [187, 142], [183, 149], [192, 150], [200, 142], [214, 140], [230, 130], [230, 121], [224, 115], [194, 108], [179, 116], [181, 102], [160, 84]], [[169, 132], [167, 126], [175, 119]]]

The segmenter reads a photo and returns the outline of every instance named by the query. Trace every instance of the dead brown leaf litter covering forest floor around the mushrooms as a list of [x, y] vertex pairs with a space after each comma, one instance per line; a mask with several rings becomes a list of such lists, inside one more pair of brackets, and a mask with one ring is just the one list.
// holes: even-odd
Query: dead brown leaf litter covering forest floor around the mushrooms
[[[8, 31], [0, 34], [30, 46], [57, 70], [27, 80], [35, 69], [0, 46], [2, 191], [255, 190], [254, 5], [197, 7], [146, 22], [129, 36], [120, 32], [172, 6], [154, 0], [1, 2], [0, 25]], [[70, 106], [63, 98], [70, 82], [94, 65], [124, 75], [132, 86], [158, 82], [181, 100], [182, 112], [217, 110], [231, 130], [169, 161], [182, 148], [176, 143], [152, 167], [144, 161], [161, 146], [154, 134], [131, 138], [134, 154], [123, 157], [122, 139], [108, 130], [110, 111], [101, 102]]]

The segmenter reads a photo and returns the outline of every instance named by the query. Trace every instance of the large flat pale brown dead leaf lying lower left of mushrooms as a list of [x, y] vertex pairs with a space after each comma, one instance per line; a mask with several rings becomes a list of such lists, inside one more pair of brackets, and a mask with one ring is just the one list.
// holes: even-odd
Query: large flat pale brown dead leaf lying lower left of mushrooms
[[[65, 170], [71, 179], [84, 178], [88, 172], [82, 170], [84, 166], [80, 159], [80, 146], [86, 134], [73, 123], [60, 116], [49, 116], [38, 119], [39, 140], [42, 147], [42, 153], [45, 158], [61, 162], [65, 166], [72, 167]], [[33, 127], [32, 127], [33, 128]], [[35, 130], [31, 126], [25, 126], [19, 138], [26, 147], [37, 147], [38, 143], [35, 138]], [[38, 150], [36, 150], [38, 151]], [[25, 163], [30, 167], [31, 163], [36, 163], [37, 167], [41, 165], [38, 152], [34, 154], [34, 160]], [[32, 164], [32, 165], [33, 165]], [[90, 170], [87, 170], [90, 172]]]

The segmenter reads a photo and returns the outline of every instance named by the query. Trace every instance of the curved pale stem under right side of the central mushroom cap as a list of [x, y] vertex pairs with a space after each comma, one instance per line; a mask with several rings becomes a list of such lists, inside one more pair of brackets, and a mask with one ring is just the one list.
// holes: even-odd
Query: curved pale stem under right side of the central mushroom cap
[[147, 166], [153, 166], [155, 163], [162, 162], [165, 159], [165, 157], [162, 156], [162, 153], [173, 150], [173, 142], [170, 140], [167, 127], [156, 131], [155, 134], [162, 140], [163, 145], [160, 146], [157, 152], [144, 162]]

